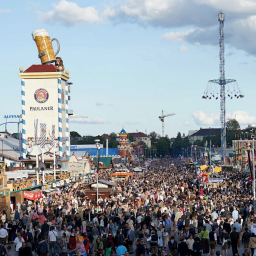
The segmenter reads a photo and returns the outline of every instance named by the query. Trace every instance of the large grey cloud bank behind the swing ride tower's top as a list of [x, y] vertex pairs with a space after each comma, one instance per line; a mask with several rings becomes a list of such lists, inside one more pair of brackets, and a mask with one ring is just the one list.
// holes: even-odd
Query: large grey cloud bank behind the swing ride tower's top
[[[106, 8], [106, 17], [118, 22], [170, 28], [169, 41], [218, 45], [217, 14], [225, 12], [225, 42], [256, 54], [256, 1], [254, 0], [123, 0]], [[189, 28], [189, 29], [188, 29]]]

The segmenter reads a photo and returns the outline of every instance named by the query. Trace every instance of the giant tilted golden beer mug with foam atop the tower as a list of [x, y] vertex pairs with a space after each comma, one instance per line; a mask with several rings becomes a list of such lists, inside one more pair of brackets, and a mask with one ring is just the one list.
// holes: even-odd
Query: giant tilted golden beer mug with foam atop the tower
[[[41, 59], [42, 64], [56, 61], [56, 55], [60, 51], [60, 43], [56, 38], [50, 39], [49, 33], [44, 28], [36, 29], [32, 32], [32, 37], [36, 42], [38, 49], [38, 58]], [[57, 42], [58, 49], [54, 52], [52, 41]]]

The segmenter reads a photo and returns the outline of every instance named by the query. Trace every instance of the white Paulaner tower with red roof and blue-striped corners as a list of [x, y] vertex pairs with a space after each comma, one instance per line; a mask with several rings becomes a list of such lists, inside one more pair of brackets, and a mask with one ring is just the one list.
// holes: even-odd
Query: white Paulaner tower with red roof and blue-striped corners
[[[59, 159], [69, 159], [69, 72], [62, 72], [52, 65], [32, 65], [20, 69], [22, 95], [22, 157], [27, 158], [35, 145], [35, 122], [38, 120], [37, 137], [44, 134], [45, 151], [55, 152]], [[41, 126], [43, 123], [45, 126]], [[53, 131], [53, 125], [55, 131]], [[41, 128], [40, 128], [41, 127]]]

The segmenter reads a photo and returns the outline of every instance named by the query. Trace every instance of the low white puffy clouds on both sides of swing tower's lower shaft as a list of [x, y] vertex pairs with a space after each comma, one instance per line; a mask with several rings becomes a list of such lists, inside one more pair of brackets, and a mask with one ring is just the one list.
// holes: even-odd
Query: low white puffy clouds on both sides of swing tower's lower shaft
[[[192, 113], [192, 118], [197, 125], [220, 126], [220, 115], [207, 115], [203, 111], [196, 111]], [[240, 125], [256, 124], [256, 116], [251, 116], [248, 112], [236, 110], [232, 113], [227, 113], [226, 121], [229, 119], [236, 119]]]

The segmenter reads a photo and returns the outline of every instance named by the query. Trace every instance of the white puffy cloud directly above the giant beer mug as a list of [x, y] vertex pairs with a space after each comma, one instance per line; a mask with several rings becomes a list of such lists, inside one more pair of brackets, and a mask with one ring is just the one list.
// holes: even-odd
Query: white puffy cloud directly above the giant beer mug
[[87, 25], [100, 21], [98, 11], [93, 6], [79, 7], [76, 3], [66, 0], [54, 4], [53, 10], [49, 12], [38, 12], [38, 17], [47, 23], [62, 23], [66, 26]]

